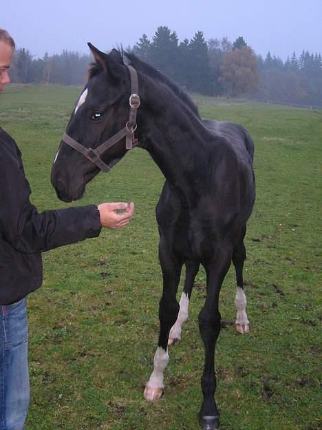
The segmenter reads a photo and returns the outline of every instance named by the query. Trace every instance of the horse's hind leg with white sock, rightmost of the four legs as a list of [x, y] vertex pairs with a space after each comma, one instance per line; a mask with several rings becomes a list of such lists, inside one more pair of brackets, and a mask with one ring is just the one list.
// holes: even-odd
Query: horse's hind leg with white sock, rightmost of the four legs
[[246, 314], [247, 299], [244, 292], [243, 267], [246, 260], [246, 248], [244, 245], [244, 236], [246, 227], [244, 228], [241, 240], [233, 249], [233, 265], [235, 266], [237, 291], [235, 296], [235, 305], [237, 309], [236, 329], [238, 333], [245, 334], [249, 331], [249, 321]]

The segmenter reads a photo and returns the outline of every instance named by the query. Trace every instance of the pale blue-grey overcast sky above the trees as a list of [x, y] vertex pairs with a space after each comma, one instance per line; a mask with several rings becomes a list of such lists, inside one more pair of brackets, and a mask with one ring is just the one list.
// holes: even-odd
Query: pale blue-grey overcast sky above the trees
[[3, 0], [0, 27], [35, 57], [62, 50], [88, 52], [151, 40], [160, 25], [179, 41], [243, 36], [257, 54], [281, 59], [302, 50], [322, 54], [322, 0]]

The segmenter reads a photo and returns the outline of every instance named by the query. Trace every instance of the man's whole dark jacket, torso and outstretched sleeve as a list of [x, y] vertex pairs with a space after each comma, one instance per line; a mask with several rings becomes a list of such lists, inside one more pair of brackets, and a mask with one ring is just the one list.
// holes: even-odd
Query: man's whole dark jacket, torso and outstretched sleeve
[[96, 237], [102, 227], [95, 205], [39, 214], [30, 194], [21, 152], [0, 127], [0, 305], [41, 286], [41, 252]]

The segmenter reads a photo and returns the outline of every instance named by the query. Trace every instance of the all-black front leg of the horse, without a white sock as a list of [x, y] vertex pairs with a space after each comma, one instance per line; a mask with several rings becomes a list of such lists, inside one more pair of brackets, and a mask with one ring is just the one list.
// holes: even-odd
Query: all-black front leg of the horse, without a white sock
[[205, 349], [204, 373], [202, 374], [202, 393], [204, 400], [199, 412], [202, 430], [216, 430], [219, 427], [219, 411], [215, 402], [215, 345], [220, 332], [220, 313], [218, 307], [222, 282], [231, 263], [232, 249], [220, 249], [215, 260], [205, 265], [207, 274], [206, 303], [199, 314], [199, 328]]

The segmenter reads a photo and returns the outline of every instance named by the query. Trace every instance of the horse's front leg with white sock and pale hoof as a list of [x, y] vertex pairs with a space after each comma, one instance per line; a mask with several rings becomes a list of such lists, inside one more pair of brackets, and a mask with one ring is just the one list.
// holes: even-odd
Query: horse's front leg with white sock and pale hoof
[[163, 276], [163, 294], [159, 305], [160, 335], [158, 349], [155, 352], [154, 369], [145, 385], [144, 397], [153, 402], [158, 400], [164, 391], [163, 373], [169, 362], [169, 332], [178, 317], [179, 304], [176, 294], [180, 281], [182, 263], [179, 263], [167, 251], [164, 240], [160, 240], [159, 259]]

